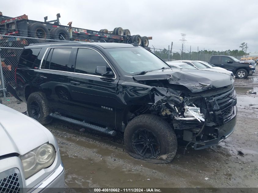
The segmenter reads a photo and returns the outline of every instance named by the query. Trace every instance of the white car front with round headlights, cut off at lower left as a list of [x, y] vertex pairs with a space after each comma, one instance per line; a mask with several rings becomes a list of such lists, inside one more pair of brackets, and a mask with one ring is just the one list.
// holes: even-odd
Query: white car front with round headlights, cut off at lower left
[[56, 139], [36, 120], [0, 104], [0, 192], [39, 191], [64, 191]]

